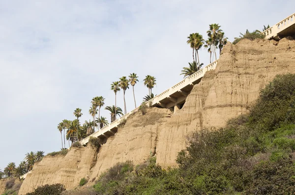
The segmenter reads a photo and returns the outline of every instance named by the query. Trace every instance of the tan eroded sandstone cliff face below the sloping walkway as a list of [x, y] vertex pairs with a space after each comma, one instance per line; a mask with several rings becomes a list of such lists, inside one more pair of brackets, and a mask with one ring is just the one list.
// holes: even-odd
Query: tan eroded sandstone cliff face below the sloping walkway
[[53, 183], [72, 189], [83, 177], [92, 180], [118, 162], [139, 164], [153, 154], [159, 165], [177, 166], [177, 153], [185, 148], [190, 133], [222, 127], [227, 120], [246, 113], [260, 90], [281, 73], [295, 73], [295, 41], [228, 44], [217, 68], [194, 86], [181, 110], [172, 114], [152, 108], [144, 116], [136, 113], [97, 154], [87, 147], [73, 149], [65, 157], [45, 157], [34, 166], [19, 194]]

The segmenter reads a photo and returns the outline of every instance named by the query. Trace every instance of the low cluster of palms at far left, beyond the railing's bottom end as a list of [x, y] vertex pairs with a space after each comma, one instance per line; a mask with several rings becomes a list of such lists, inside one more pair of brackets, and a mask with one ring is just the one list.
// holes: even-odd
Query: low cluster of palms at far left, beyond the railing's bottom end
[[21, 176], [33, 169], [35, 162], [40, 161], [44, 156], [43, 151], [28, 152], [24, 161], [22, 161], [18, 167], [16, 167], [14, 162], [8, 163], [3, 171], [0, 170], [0, 178], [10, 177], [10, 176]]

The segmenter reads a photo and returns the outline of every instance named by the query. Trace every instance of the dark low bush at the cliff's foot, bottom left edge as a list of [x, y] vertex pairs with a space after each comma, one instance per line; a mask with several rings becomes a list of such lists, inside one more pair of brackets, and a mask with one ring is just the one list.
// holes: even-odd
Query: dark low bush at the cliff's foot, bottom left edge
[[65, 191], [64, 185], [53, 184], [38, 187], [34, 192], [27, 195], [61, 195]]

